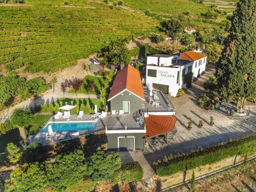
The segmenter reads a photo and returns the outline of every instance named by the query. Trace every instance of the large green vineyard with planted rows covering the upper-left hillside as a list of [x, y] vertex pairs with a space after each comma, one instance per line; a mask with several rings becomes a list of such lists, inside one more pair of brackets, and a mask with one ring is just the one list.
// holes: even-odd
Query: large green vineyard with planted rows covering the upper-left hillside
[[93, 2], [26, 3], [0, 4], [0, 65], [5, 68], [0, 73], [57, 71], [76, 65], [78, 58], [88, 57], [111, 40], [149, 34], [159, 25], [143, 14]]

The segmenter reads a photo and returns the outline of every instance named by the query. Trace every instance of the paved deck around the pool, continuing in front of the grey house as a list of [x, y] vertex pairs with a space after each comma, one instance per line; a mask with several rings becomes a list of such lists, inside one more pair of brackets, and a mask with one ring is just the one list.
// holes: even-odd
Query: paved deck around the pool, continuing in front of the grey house
[[[42, 145], [47, 145], [50, 143], [60, 142], [64, 140], [73, 139], [80, 136], [90, 135], [99, 131], [105, 130], [105, 125], [108, 126], [108, 130], [124, 130], [124, 126], [127, 125], [127, 130], [143, 130], [143, 124], [137, 124], [137, 115], [124, 114], [122, 117], [115, 116], [112, 117], [109, 113], [104, 118], [94, 119], [93, 114], [83, 115], [82, 119], [77, 119], [77, 115], [71, 115], [70, 120], [67, 119], [55, 119], [51, 117], [41, 130], [35, 136], [29, 136], [28, 142], [39, 142]], [[79, 131], [54, 131], [54, 136], [47, 137], [48, 132], [44, 132], [43, 129], [48, 123], [74, 123], [74, 122], [97, 122], [96, 127], [90, 130], [79, 130]]]

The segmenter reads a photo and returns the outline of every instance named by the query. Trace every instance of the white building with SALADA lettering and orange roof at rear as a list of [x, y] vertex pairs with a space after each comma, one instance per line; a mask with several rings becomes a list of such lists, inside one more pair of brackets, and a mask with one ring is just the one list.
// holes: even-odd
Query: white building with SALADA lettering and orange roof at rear
[[183, 76], [188, 72], [198, 77], [205, 71], [207, 56], [194, 51], [175, 55], [156, 54], [147, 57], [146, 84], [165, 94], [176, 96], [179, 88], [186, 88]]

